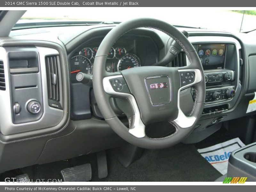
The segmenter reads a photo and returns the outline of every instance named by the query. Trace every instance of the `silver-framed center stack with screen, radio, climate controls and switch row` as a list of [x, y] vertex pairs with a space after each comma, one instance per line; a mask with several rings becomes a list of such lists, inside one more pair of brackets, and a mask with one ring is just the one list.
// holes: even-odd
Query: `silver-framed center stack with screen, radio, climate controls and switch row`
[[[234, 106], [236, 94], [240, 92], [240, 44], [231, 37], [206, 36], [198, 42], [197, 37], [189, 38], [204, 69], [206, 96], [202, 117], [227, 111]], [[191, 94], [195, 100], [196, 90], [192, 89]]]

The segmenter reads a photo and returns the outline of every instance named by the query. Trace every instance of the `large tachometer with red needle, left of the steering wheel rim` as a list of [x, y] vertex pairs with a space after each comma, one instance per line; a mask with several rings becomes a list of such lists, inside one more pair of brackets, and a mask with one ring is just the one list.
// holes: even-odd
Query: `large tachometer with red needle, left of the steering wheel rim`
[[70, 72], [71, 73], [71, 81], [76, 81], [76, 74], [79, 72], [91, 74], [92, 63], [86, 57], [77, 55], [77, 56], [71, 58], [70, 71], [71, 71]]

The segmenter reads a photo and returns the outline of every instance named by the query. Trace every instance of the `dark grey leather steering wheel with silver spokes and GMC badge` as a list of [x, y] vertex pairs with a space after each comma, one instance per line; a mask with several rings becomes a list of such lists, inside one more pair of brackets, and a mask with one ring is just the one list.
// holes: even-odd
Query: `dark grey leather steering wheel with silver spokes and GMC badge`
[[[180, 44], [190, 64], [180, 68], [144, 66], [107, 72], [105, 64], [111, 47], [128, 31], [142, 27], [158, 29], [171, 36]], [[164, 59], [169, 54], [173, 54], [171, 49]], [[180, 109], [180, 91], [189, 87], [196, 90], [196, 96], [193, 109], [186, 116]], [[179, 143], [193, 131], [204, 108], [205, 80], [196, 50], [178, 29], [156, 19], [126, 21], [105, 36], [94, 60], [93, 90], [100, 112], [113, 131], [141, 148], [166, 148]], [[112, 97], [129, 101], [130, 105], [123, 102], [122, 108], [129, 120], [129, 128], [111, 108]], [[169, 121], [176, 128], [175, 133], [164, 138], [149, 138], [145, 134], [145, 125], [161, 121]]]

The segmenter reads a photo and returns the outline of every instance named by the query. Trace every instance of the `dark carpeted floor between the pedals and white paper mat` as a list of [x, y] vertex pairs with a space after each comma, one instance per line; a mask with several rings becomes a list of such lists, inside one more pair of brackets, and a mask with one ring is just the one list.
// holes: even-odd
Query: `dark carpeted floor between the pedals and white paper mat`
[[221, 176], [194, 145], [144, 150], [142, 157], [128, 168], [117, 161], [117, 150], [109, 151], [107, 159], [108, 177], [93, 177], [92, 181], [214, 181]]

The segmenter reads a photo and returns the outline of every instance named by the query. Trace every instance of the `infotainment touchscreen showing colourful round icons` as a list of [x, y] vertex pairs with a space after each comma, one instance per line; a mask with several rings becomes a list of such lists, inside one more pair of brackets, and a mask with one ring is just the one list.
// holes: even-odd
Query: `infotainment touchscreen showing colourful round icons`
[[224, 68], [226, 44], [198, 44], [197, 53], [204, 70]]

